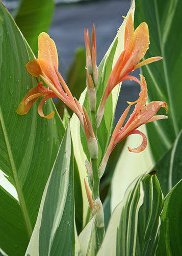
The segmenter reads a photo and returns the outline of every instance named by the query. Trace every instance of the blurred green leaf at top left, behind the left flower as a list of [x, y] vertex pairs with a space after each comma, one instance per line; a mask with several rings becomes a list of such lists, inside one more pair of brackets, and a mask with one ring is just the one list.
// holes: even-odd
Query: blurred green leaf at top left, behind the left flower
[[54, 0], [21, 0], [15, 22], [33, 52], [38, 52], [38, 35], [47, 32], [55, 9]]

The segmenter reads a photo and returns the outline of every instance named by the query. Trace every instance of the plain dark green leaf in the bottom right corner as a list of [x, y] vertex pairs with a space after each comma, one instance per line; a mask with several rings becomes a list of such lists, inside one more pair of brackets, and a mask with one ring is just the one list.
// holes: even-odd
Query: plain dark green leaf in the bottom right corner
[[160, 240], [157, 256], [173, 256], [182, 253], [182, 180], [180, 180], [165, 198], [161, 215]]

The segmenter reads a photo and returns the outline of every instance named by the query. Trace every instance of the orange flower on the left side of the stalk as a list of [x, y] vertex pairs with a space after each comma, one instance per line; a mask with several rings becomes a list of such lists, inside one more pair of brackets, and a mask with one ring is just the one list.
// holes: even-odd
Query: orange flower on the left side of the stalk
[[84, 125], [82, 108], [79, 102], [73, 98], [66, 82], [58, 72], [58, 53], [55, 42], [48, 34], [43, 32], [39, 35], [38, 47], [38, 59], [29, 61], [26, 68], [32, 76], [42, 78], [50, 90], [43, 87], [42, 82], [39, 82], [37, 87], [31, 89], [30, 92], [25, 95], [18, 105], [16, 112], [19, 115], [26, 114], [38, 98], [44, 97], [39, 103], [38, 113], [45, 118], [52, 118], [54, 116], [54, 111], [49, 115], [44, 116], [42, 107], [43, 103], [48, 98], [57, 97], [79, 117], [81, 124]]

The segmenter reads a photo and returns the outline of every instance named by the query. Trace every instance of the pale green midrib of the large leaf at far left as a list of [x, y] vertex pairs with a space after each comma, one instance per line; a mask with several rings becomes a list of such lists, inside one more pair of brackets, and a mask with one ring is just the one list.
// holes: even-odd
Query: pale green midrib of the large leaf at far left
[[25, 222], [25, 226], [27, 227], [28, 235], [29, 235], [29, 237], [31, 237], [33, 228], [32, 228], [30, 218], [29, 218], [27, 206], [26, 206], [25, 201], [24, 201], [24, 196], [23, 196], [23, 193], [22, 193], [22, 190], [21, 190], [21, 185], [20, 185], [20, 182], [19, 182], [19, 179], [18, 179], [17, 169], [16, 169], [16, 165], [15, 165], [15, 162], [14, 162], [14, 159], [13, 159], [13, 154], [12, 154], [12, 151], [11, 151], [11, 146], [10, 146], [8, 134], [7, 134], [7, 131], [6, 131], [6, 125], [5, 125], [5, 122], [4, 122], [4, 119], [3, 119], [3, 113], [2, 113], [1, 106], [0, 106], [0, 121], [1, 121], [2, 129], [3, 129], [3, 134], [4, 134], [4, 138], [5, 138], [7, 151], [8, 151], [8, 156], [9, 156], [9, 159], [10, 159], [10, 165], [11, 165], [11, 168], [12, 168], [12, 175], [13, 175], [13, 179], [14, 179], [14, 183], [15, 183], [15, 188], [16, 188], [16, 191], [17, 191], [17, 194], [18, 194], [19, 204], [20, 204], [20, 207], [21, 207], [21, 210], [22, 210], [23, 219], [24, 219], [24, 222]]

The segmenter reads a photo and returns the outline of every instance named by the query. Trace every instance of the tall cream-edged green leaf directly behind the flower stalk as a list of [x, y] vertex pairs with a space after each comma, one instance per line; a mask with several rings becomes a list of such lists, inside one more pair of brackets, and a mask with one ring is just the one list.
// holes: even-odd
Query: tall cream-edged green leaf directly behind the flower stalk
[[[130, 13], [134, 15], [134, 10], [135, 10], [135, 3], [133, 2], [127, 16]], [[99, 65], [100, 81], [98, 81], [98, 84], [97, 84], [97, 97], [103, 93], [103, 88], [104, 86], [106, 86], [107, 78], [109, 77], [112, 68], [114, 67], [119, 55], [121, 54], [124, 48], [123, 38], [124, 38], [125, 24], [126, 24], [126, 20], [124, 19], [113, 43], [111, 44], [105, 57], [103, 57], [103, 60]], [[102, 143], [99, 146], [99, 154], [100, 154], [99, 161], [101, 160], [101, 156], [103, 156], [103, 153], [106, 150], [106, 146], [108, 144], [119, 91], [120, 91], [120, 85], [115, 87], [112, 94], [109, 96], [107, 100], [108, 102], [106, 103], [105, 115], [103, 116], [103, 120], [99, 127], [98, 141], [100, 141], [99, 143]], [[98, 97], [98, 99], [99, 98], [100, 97]], [[88, 110], [88, 98], [87, 98], [86, 89], [82, 93], [81, 98], [79, 99], [79, 102], [81, 105], [84, 104], [86, 109]], [[97, 104], [99, 104], [99, 101], [97, 102]], [[75, 156], [77, 165], [79, 166], [79, 173], [80, 173], [81, 184], [82, 184], [83, 209], [84, 209], [83, 220], [84, 220], [84, 224], [86, 225], [87, 223], [85, 223], [85, 221], [86, 221], [87, 211], [88, 211], [88, 202], [87, 202], [87, 197], [85, 193], [84, 178], [85, 179], [87, 178], [87, 171], [85, 167], [85, 160], [88, 157], [88, 152], [86, 151], [87, 143], [86, 143], [86, 139], [83, 137], [85, 135], [83, 135], [83, 132], [81, 130], [80, 122], [75, 115], [73, 115], [73, 117], [71, 118], [70, 124], [71, 124], [71, 136], [72, 136], [72, 141], [74, 146], [74, 156]], [[81, 134], [81, 136], [78, 136], [78, 134]]]

